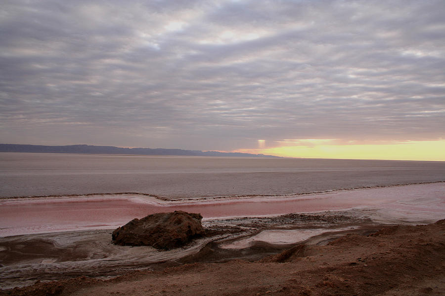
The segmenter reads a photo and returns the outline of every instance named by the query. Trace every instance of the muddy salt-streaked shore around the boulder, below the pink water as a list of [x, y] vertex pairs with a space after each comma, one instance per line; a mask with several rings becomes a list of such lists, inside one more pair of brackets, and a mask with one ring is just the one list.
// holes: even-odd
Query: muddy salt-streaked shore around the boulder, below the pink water
[[[301, 243], [326, 244], [346, 233], [366, 233], [379, 224], [348, 212], [287, 214], [276, 217], [246, 217], [203, 222], [206, 235], [183, 248], [159, 251], [152, 247], [118, 246], [111, 230], [78, 230], [26, 234], [0, 238], [2, 289], [26, 286], [35, 281], [69, 279], [77, 276], [116, 277], [132, 270], [162, 270], [193, 262], [256, 260]], [[311, 229], [317, 233], [306, 235]], [[319, 230], [322, 231], [319, 231]], [[265, 232], [266, 231], [266, 232]], [[286, 242], [255, 239], [262, 233], [291, 233]], [[297, 236], [300, 232], [303, 236]], [[252, 238], [242, 247], [233, 243]], [[228, 247], [227, 247], [228, 246]], [[209, 254], [211, 249], [211, 254]], [[61, 273], [62, 272], [62, 273]]]

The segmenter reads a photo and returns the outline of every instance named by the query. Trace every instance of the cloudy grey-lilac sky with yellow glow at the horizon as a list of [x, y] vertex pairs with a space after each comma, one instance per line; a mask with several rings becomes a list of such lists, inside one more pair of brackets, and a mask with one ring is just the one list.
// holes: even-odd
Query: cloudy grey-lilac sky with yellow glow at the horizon
[[445, 160], [444, 0], [2, 0], [0, 143]]

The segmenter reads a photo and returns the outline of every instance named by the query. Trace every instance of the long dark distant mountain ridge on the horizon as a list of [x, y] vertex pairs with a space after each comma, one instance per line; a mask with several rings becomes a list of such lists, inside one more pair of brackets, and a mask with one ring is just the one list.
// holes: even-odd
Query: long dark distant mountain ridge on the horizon
[[240, 152], [200, 151], [200, 150], [166, 149], [166, 148], [121, 148], [114, 146], [91, 146], [91, 145], [43, 146], [43, 145], [22, 145], [22, 144], [0, 144], [0, 152], [279, 157], [273, 155], [250, 154], [250, 153], [240, 153]]

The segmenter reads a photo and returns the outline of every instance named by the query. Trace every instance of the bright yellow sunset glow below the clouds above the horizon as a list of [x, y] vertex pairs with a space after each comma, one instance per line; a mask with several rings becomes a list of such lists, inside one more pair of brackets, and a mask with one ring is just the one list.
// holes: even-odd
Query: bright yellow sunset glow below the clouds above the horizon
[[445, 140], [406, 141], [397, 144], [336, 145], [332, 140], [285, 140], [279, 147], [240, 149], [284, 157], [337, 159], [394, 159], [445, 161]]

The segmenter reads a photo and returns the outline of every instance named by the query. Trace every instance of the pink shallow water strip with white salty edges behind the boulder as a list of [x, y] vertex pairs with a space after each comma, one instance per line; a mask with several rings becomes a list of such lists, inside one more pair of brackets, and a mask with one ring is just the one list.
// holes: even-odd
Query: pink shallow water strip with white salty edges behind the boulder
[[445, 218], [445, 183], [324, 193], [163, 201], [139, 194], [0, 199], [0, 236], [112, 229], [134, 218], [181, 210], [204, 220], [342, 209], [374, 209], [375, 220], [434, 222]]

